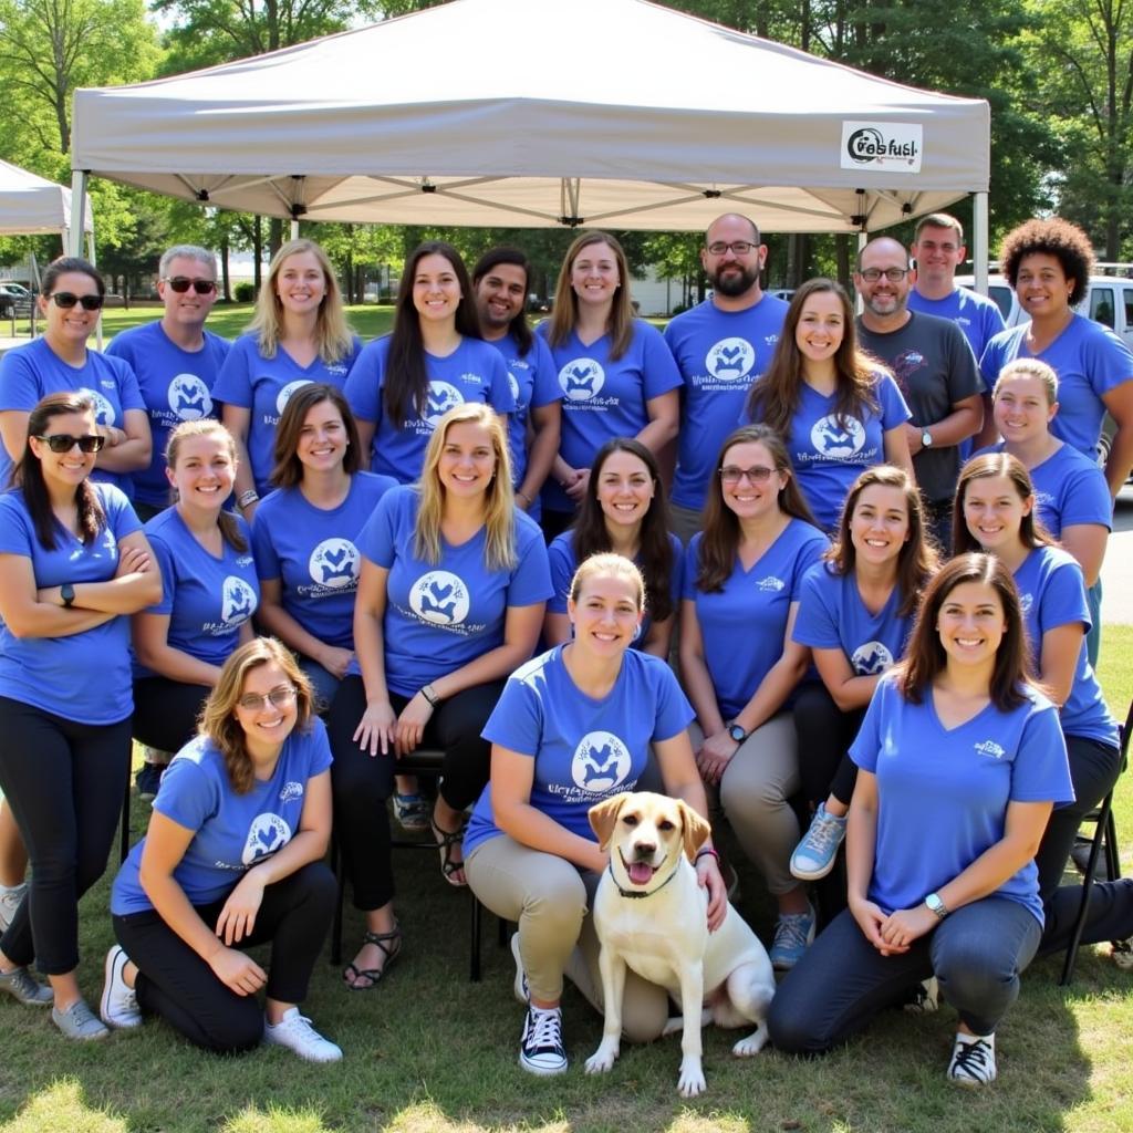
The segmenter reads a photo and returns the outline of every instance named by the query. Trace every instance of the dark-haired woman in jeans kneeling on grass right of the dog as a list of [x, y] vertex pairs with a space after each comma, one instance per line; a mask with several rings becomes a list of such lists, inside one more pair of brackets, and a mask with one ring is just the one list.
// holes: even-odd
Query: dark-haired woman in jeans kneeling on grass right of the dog
[[850, 908], [780, 985], [772, 1040], [828, 1050], [935, 976], [960, 1014], [948, 1079], [987, 1085], [995, 1030], [1042, 936], [1034, 852], [1051, 807], [1074, 798], [1058, 713], [1028, 679], [1019, 591], [998, 559], [940, 569], [850, 755]]

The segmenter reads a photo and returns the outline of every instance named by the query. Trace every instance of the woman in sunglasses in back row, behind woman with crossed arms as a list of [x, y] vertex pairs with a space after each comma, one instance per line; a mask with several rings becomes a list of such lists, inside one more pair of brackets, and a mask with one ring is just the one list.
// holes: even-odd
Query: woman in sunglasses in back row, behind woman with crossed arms
[[85, 259], [65, 256], [43, 273], [36, 300], [43, 333], [0, 358], [0, 484], [24, 452], [27, 417], [40, 400], [57, 391], [83, 392], [94, 401], [96, 428], [105, 438], [94, 479], [134, 497], [131, 474], [148, 468], [153, 451], [150, 418], [134, 370], [86, 348], [105, 295], [105, 281]]

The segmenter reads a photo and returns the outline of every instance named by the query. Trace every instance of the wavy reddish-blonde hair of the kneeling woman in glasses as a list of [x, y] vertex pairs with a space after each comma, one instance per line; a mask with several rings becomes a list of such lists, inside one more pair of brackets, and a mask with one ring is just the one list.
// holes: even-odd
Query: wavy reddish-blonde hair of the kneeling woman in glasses
[[272, 662], [279, 665], [283, 675], [295, 685], [295, 726], [300, 732], [307, 731], [314, 715], [310, 681], [291, 650], [275, 638], [254, 638], [232, 651], [197, 721], [197, 733], [216, 744], [224, 759], [228, 781], [237, 794], [247, 794], [252, 790], [255, 770], [248, 756], [244, 729], [236, 718], [236, 705], [244, 696], [244, 682], [248, 673]]

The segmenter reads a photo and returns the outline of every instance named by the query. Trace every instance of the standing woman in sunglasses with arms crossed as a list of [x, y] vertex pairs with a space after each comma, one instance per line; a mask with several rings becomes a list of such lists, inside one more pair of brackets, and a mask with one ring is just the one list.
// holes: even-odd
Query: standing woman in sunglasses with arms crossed
[[129, 501], [91, 482], [105, 443], [94, 400], [50, 394], [27, 425], [0, 495], [0, 789], [32, 881], [0, 937], [0, 990], [53, 1003], [68, 1038], [100, 1039], [76, 978], [78, 900], [107, 868], [129, 776], [125, 615], [160, 599], [161, 574]]

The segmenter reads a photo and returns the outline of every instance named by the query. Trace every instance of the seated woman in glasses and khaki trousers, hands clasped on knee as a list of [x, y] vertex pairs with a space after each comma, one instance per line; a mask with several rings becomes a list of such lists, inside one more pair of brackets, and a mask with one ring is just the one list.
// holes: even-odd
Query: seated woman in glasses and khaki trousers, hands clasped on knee
[[815, 937], [815, 910], [789, 867], [800, 830], [787, 800], [801, 786], [790, 702], [809, 659], [792, 630], [803, 576], [829, 544], [774, 429], [736, 429], [716, 467], [719, 487], [684, 561], [681, 673], [697, 765], [776, 900], [770, 957], [787, 969]]

